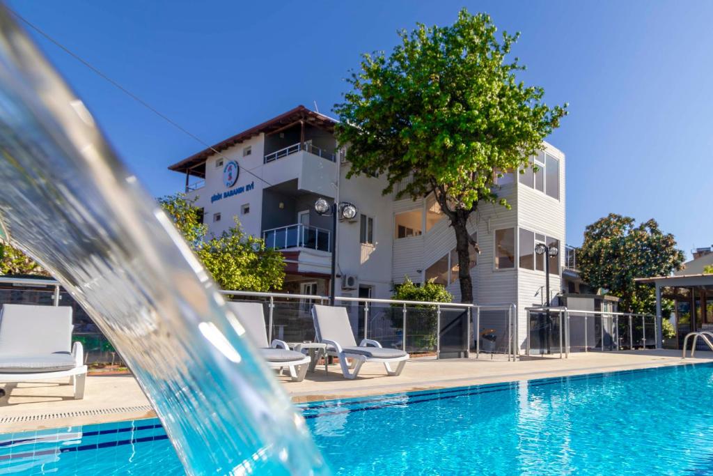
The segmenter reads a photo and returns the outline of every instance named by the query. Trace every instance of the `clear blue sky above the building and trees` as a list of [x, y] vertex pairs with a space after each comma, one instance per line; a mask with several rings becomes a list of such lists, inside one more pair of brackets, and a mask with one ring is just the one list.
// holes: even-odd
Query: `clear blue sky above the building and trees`
[[[297, 104], [330, 113], [359, 54], [396, 29], [485, 11], [520, 31], [528, 83], [570, 116], [567, 241], [607, 213], [655, 218], [687, 253], [713, 243], [713, 2], [11, 1], [10, 6], [183, 127], [214, 143]], [[53, 64], [155, 196], [202, 149], [46, 40]]]

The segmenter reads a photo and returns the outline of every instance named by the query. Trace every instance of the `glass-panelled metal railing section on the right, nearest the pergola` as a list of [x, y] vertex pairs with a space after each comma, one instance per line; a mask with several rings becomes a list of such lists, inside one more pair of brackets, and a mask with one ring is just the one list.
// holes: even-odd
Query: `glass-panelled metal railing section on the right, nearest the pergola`
[[[571, 349], [590, 350], [634, 350], [651, 345], [660, 348], [658, 321], [654, 315], [618, 313], [598, 310], [573, 310], [566, 307], [525, 308], [527, 333], [525, 355], [533, 351], [533, 331], [538, 333], [537, 348], [540, 354], [551, 354], [553, 337], [557, 337], [555, 348], [559, 348], [560, 358], [568, 358]], [[535, 327], [533, 328], [533, 317]], [[575, 322], [575, 345], [572, 345], [573, 321]], [[647, 335], [647, 326], [651, 327]], [[653, 343], [651, 342], [653, 340]], [[556, 352], [555, 352], [556, 353]]]

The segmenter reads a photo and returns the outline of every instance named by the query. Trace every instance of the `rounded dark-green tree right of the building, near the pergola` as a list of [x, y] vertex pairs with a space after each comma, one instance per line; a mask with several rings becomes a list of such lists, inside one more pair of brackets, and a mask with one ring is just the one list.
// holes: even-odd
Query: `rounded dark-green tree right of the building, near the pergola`
[[[684, 253], [676, 248], [673, 235], [663, 233], [655, 220], [636, 226], [634, 218], [610, 213], [586, 228], [577, 260], [582, 279], [620, 298], [620, 310], [653, 314], [654, 288], [634, 279], [665, 276], [681, 269]], [[671, 303], [665, 303], [665, 314], [670, 310]]]

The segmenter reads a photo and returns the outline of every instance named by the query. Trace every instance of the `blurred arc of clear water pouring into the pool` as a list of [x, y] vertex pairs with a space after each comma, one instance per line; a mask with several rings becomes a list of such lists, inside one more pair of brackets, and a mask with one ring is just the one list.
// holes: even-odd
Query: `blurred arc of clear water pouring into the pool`
[[190, 474], [324, 474], [302, 417], [91, 113], [0, 7], [0, 216], [128, 363]]

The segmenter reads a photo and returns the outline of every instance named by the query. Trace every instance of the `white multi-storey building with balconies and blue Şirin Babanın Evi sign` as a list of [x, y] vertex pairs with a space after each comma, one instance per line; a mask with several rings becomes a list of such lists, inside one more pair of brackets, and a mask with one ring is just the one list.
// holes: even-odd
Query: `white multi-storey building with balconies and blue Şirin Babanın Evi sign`
[[[188, 196], [202, 208], [210, 233], [224, 231], [237, 217], [247, 233], [283, 251], [285, 290], [328, 293], [331, 218], [314, 211], [324, 197], [359, 208], [354, 220], [337, 227], [338, 295], [389, 298], [394, 284], [409, 276], [416, 283], [435, 278], [459, 298], [456, 238], [434, 199], [382, 196], [386, 181], [378, 177], [347, 180], [349, 163], [333, 131], [332, 118], [298, 106], [170, 170], [185, 173]], [[535, 160], [537, 173], [528, 169], [498, 180], [498, 193], [512, 208], [480, 206], [468, 227], [481, 249], [471, 269], [476, 302], [515, 303], [520, 340], [524, 309], [544, 302], [545, 258], [534, 253], [535, 244], [563, 249], [565, 243], [565, 156], [545, 143]], [[556, 295], [563, 253], [550, 259]]]

